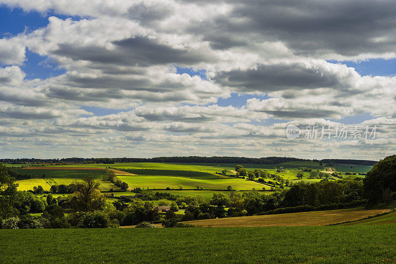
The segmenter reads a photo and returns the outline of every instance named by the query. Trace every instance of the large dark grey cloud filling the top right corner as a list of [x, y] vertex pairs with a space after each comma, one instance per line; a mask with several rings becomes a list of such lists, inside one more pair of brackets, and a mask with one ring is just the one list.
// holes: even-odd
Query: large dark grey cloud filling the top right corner
[[[282, 41], [303, 55], [388, 53], [396, 48], [396, 5], [393, 0], [238, 1], [230, 15], [190, 29], [217, 49], [241, 46], [236, 37], [244, 35], [246, 45]], [[229, 37], [221, 37], [223, 32]]]

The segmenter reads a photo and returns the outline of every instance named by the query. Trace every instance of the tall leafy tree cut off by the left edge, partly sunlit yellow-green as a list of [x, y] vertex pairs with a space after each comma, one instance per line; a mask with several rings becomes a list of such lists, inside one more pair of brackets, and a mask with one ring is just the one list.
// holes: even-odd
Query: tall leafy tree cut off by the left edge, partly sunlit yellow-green
[[0, 163], [0, 220], [18, 215], [18, 210], [13, 207], [17, 199], [17, 186], [15, 178], [8, 175], [7, 167]]

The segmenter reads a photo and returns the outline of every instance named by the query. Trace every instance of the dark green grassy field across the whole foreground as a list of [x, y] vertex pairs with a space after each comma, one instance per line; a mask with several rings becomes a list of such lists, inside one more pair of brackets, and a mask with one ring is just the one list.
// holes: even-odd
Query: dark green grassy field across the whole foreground
[[[0, 230], [0, 263], [391, 263], [395, 225]], [[42, 243], [45, 241], [45, 243]]]

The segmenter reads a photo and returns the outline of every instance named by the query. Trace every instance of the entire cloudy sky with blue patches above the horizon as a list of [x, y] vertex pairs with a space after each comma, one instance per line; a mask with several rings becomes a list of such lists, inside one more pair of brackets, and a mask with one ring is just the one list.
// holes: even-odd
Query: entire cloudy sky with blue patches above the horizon
[[0, 158], [379, 160], [395, 31], [391, 0], [0, 0]]

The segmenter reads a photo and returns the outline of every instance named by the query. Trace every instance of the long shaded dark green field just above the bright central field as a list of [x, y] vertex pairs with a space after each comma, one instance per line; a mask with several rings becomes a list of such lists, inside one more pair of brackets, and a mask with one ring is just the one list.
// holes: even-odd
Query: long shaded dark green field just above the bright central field
[[222, 175], [212, 174], [194, 170], [173, 170], [173, 169], [121, 169], [136, 175], [142, 176], [175, 176], [193, 179], [219, 179]]

